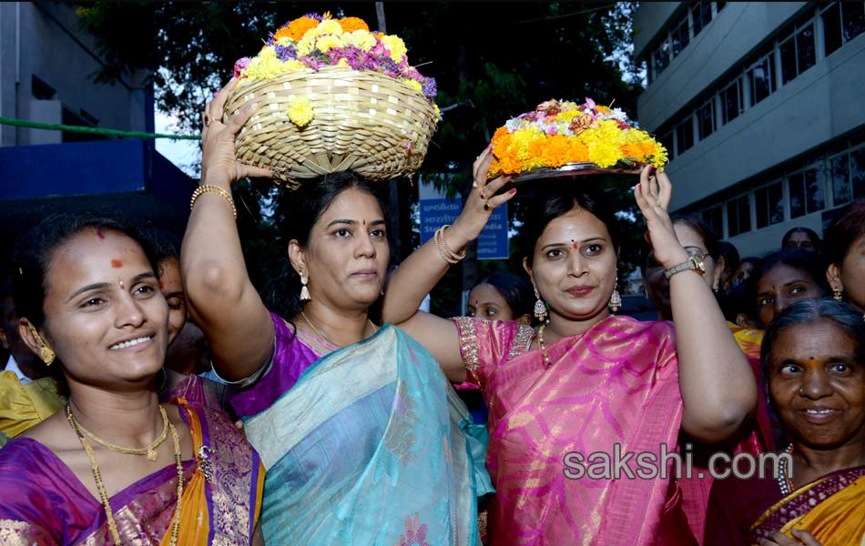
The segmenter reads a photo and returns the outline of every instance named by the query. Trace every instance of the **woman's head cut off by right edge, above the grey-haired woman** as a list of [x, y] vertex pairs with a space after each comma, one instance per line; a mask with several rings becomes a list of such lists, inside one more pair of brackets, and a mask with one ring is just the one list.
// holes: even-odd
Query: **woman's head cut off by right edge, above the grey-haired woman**
[[[826, 278], [834, 298], [865, 311], [865, 199], [841, 209], [826, 230]], [[862, 317], [865, 319], [865, 316]]]

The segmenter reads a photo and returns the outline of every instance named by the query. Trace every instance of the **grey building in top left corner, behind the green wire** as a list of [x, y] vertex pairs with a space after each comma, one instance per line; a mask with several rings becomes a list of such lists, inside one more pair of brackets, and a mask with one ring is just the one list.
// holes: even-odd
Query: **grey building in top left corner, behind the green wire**
[[[0, 3], [0, 116], [74, 126], [153, 130], [146, 72], [97, 84], [97, 41], [78, 26], [76, 6]], [[0, 147], [61, 144], [96, 136], [0, 125]]]

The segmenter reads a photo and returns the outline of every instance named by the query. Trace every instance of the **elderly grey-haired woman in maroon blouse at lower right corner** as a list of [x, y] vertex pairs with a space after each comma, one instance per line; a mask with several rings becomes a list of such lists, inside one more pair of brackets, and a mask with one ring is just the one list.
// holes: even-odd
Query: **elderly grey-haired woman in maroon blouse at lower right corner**
[[764, 477], [715, 481], [707, 546], [860, 544], [865, 323], [845, 303], [800, 301], [767, 329], [762, 361], [769, 399], [792, 442], [778, 467], [765, 461]]

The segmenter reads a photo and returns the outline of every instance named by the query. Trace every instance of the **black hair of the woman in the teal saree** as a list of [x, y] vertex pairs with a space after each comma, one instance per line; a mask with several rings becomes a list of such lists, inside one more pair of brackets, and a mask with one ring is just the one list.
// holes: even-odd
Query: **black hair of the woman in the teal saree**
[[351, 171], [341, 171], [307, 180], [294, 191], [283, 191], [277, 204], [278, 239], [277, 275], [270, 277], [263, 289], [264, 303], [271, 311], [291, 319], [301, 310], [305, 302], [300, 301], [300, 275], [291, 267], [286, 249], [292, 239], [301, 247], [310, 245], [310, 232], [321, 215], [334, 199], [349, 189], [358, 189], [375, 197], [387, 219], [387, 210], [382, 198], [370, 183]]

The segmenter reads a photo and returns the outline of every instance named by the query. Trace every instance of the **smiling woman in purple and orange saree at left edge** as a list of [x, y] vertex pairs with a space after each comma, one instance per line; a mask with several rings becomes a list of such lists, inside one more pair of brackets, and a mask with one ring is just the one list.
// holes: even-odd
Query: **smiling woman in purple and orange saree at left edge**
[[4, 544], [260, 544], [264, 469], [228, 417], [160, 404], [168, 305], [135, 230], [46, 218], [21, 245], [27, 346], [63, 372], [66, 408], [0, 450]]

